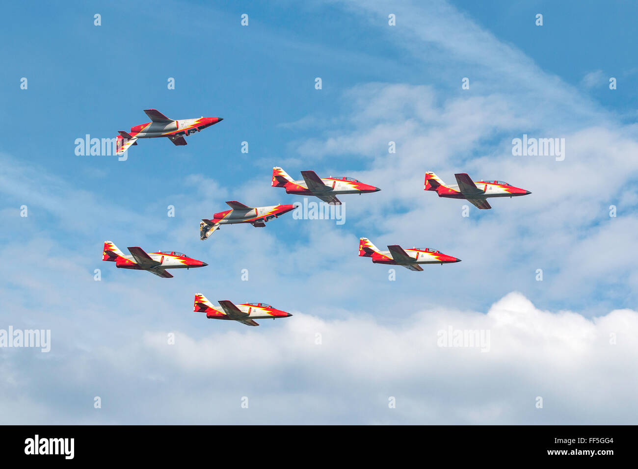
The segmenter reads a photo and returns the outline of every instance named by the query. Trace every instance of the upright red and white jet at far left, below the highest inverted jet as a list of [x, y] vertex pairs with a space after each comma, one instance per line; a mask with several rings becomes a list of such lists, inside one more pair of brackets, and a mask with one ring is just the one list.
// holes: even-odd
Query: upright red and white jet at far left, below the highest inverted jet
[[127, 248], [130, 256], [122, 253], [110, 241], [104, 242], [102, 260], [115, 262], [118, 269], [133, 269], [135, 271], [149, 271], [162, 278], [172, 278], [166, 269], [191, 269], [191, 267], [206, 267], [208, 264], [201, 260], [192, 259], [186, 254], [176, 251], [162, 251], [147, 254], [144, 249], [133, 246]]

